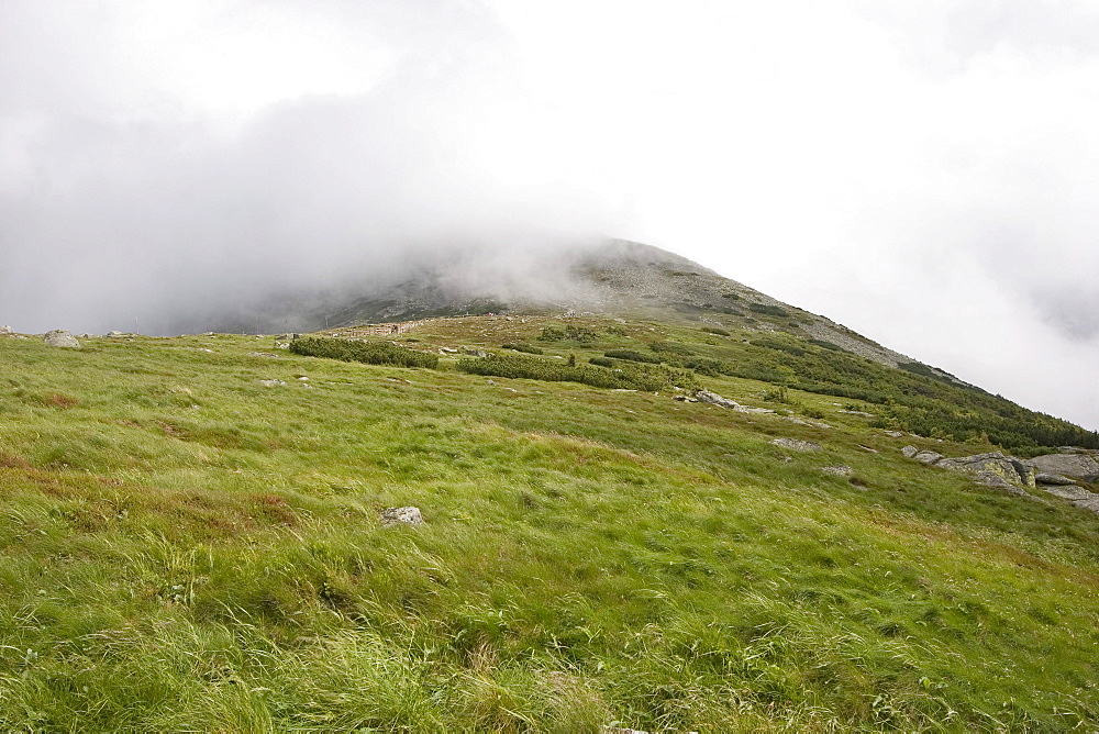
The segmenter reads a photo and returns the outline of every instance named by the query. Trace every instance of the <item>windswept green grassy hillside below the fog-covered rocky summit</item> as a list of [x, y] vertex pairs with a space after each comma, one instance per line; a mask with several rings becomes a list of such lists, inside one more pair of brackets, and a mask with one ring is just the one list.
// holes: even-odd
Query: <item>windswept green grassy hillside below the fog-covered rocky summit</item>
[[[462, 352], [0, 341], [0, 727], [1099, 726], [1099, 516], [899, 451], [989, 451], [996, 420], [1022, 447], [1088, 434], [710, 329], [482, 318], [397, 340], [539, 379]], [[668, 379], [573, 379], [591, 370]], [[780, 412], [673, 400], [689, 380]], [[409, 504], [424, 525], [381, 525]]]

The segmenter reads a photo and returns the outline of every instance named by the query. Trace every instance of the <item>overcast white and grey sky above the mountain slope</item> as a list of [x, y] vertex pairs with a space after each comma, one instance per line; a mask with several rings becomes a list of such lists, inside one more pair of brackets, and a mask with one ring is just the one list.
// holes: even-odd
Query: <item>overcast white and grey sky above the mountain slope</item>
[[1095, 1], [0, 0], [23, 331], [600, 232], [1097, 429], [1097, 171]]

